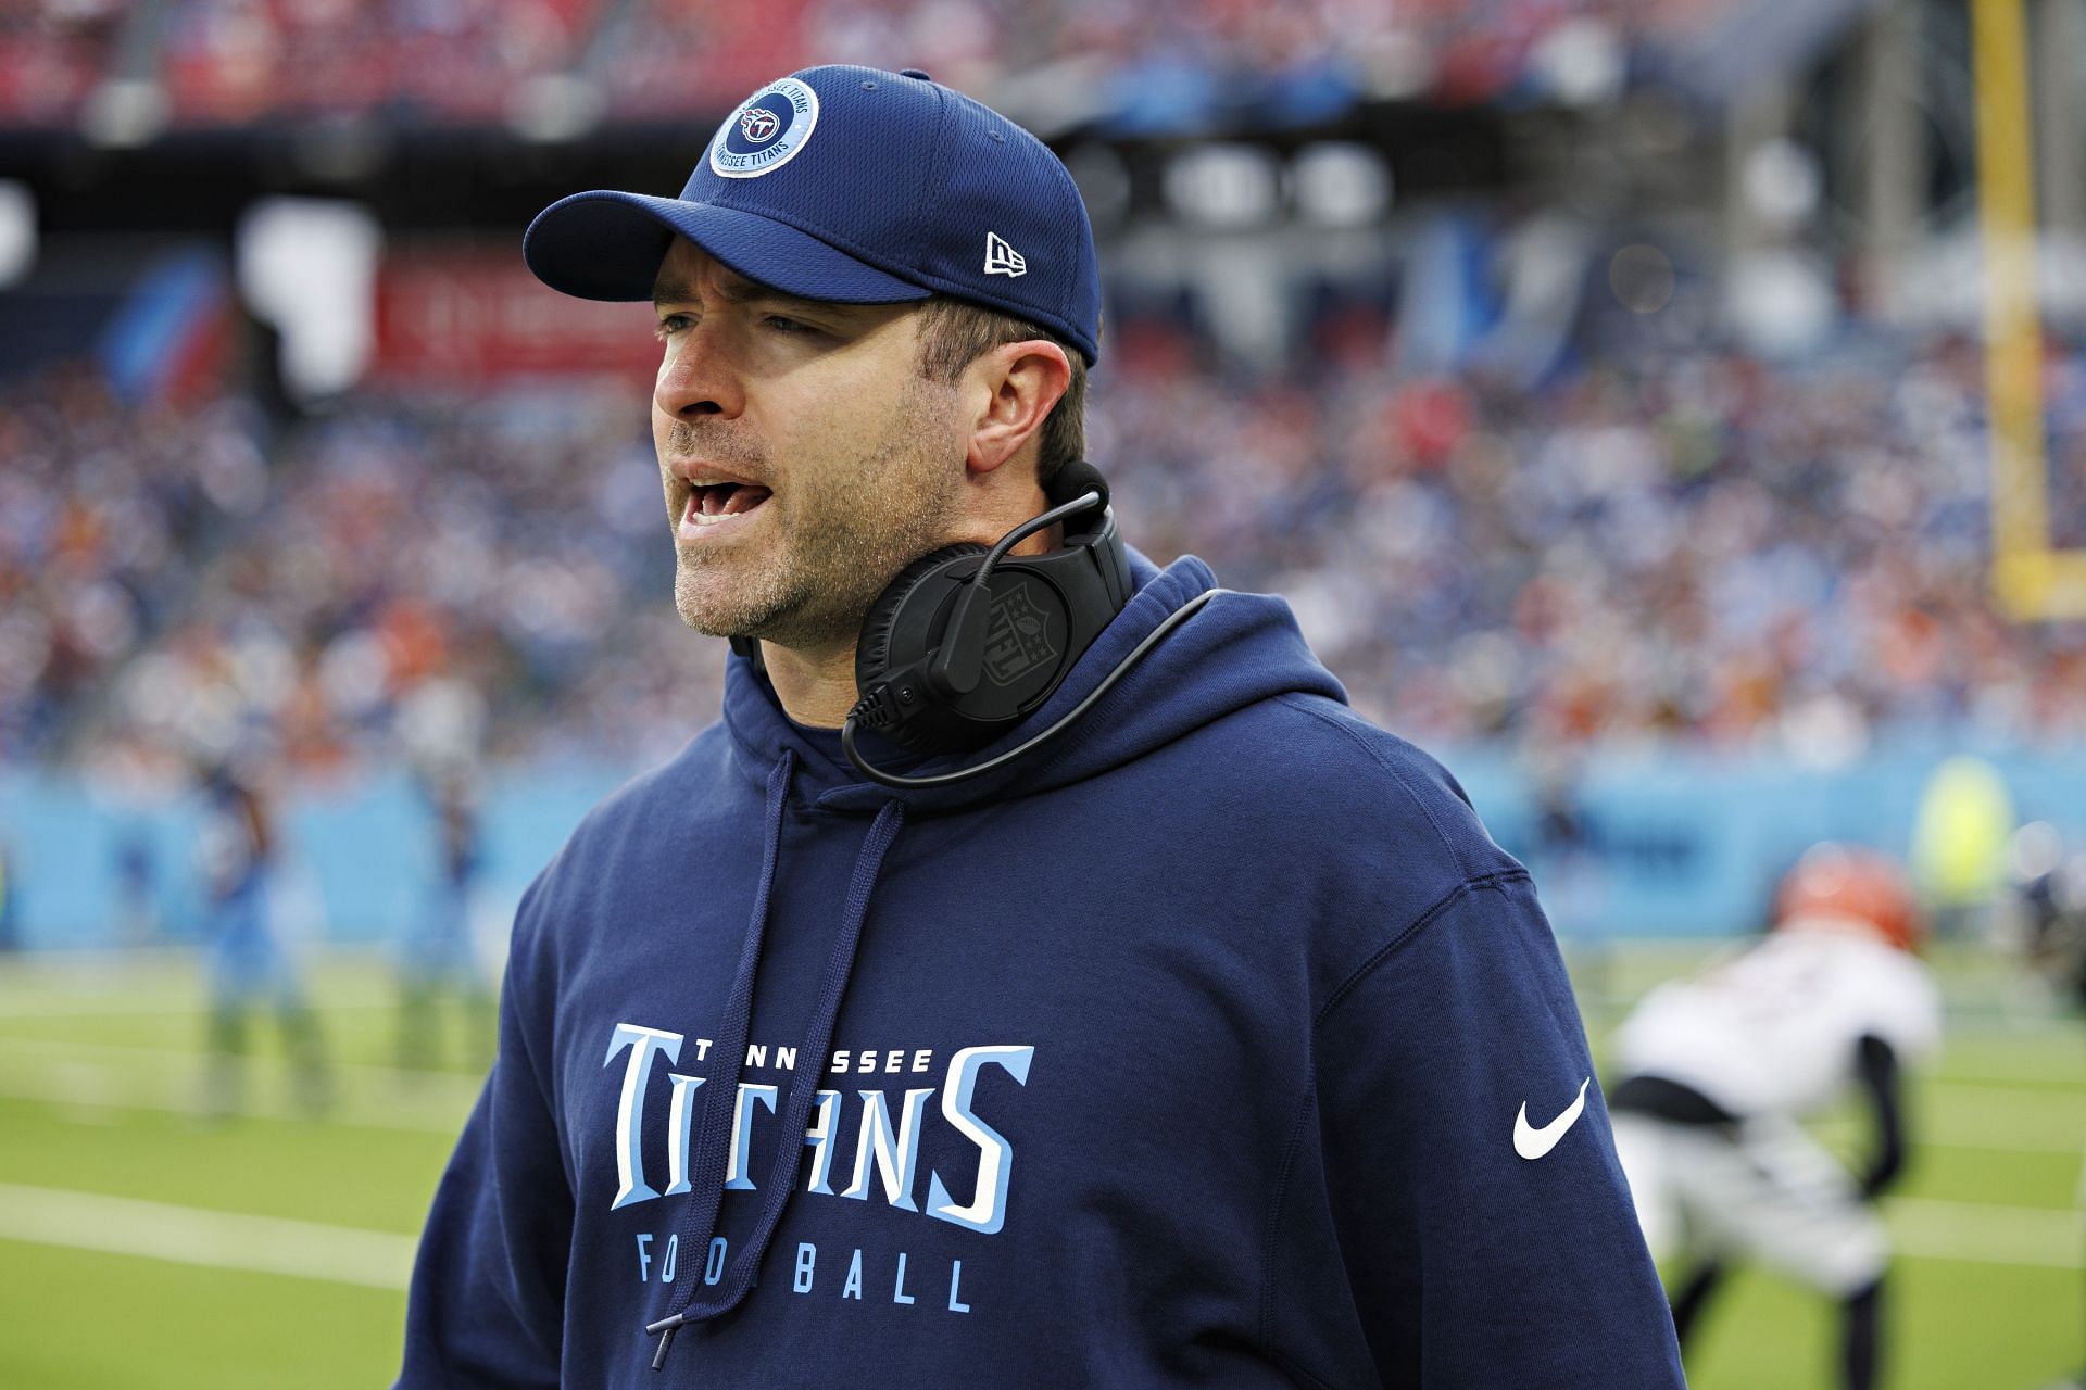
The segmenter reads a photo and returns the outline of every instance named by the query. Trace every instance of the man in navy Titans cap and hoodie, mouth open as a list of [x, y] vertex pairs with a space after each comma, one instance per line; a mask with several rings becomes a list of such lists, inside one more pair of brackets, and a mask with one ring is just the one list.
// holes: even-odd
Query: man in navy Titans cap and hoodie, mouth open
[[736, 654], [522, 902], [403, 1386], [1681, 1384], [1523, 869], [1283, 602], [1097, 519], [1056, 156], [820, 67], [528, 258], [655, 300]]

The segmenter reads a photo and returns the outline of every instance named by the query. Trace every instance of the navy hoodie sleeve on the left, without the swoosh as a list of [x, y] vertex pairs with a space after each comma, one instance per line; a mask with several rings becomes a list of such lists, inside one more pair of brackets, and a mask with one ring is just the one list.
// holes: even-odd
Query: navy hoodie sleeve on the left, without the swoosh
[[434, 1194], [413, 1263], [405, 1369], [396, 1390], [519, 1390], [559, 1384], [572, 1186], [532, 1038], [524, 946], [530, 904], [501, 990], [501, 1038], [478, 1107]]

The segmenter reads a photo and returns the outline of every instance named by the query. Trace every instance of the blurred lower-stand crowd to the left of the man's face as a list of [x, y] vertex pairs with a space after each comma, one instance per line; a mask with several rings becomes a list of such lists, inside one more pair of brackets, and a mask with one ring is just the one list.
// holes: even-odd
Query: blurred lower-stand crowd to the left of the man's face
[[[676, 711], [715, 706], [722, 654], [674, 640], [672, 550], [642, 544], [661, 525], [642, 419], [626, 392], [359, 398], [263, 461], [232, 398], [138, 413], [86, 381], [58, 404], [17, 388], [6, 752], [440, 775], [676, 746]], [[227, 454], [248, 475], [213, 490]]]

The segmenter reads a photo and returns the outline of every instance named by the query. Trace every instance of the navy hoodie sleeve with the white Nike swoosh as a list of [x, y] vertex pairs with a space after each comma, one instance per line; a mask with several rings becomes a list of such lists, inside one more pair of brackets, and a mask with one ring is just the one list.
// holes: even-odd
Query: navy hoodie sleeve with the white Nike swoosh
[[1385, 1386], [1685, 1384], [1525, 873], [1464, 882], [1356, 969], [1314, 1071], [1325, 1196]]

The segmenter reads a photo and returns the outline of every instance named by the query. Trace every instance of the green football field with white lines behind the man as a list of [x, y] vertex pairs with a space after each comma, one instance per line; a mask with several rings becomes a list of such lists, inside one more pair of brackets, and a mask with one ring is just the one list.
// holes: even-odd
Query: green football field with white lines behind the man
[[[1596, 1042], [1692, 954], [1575, 959]], [[1952, 1034], [1919, 1084], [1921, 1148], [1888, 1205], [1888, 1384], [2038, 1390], [2078, 1369], [2086, 1340], [2086, 1025], [1984, 957], [1940, 969]], [[261, 1029], [244, 1115], [211, 1121], [190, 959], [0, 959], [0, 1386], [390, 1382], [413, 1234], [482, 1059], [459, 1013], [448, 1069], [396, 1069], [371, 961], [328, 961], [317, 994], [340, 1063], [325, 1117], [305, 1115]], [[1832, 1346], [1819, 1298], [1742, 1273], [1708, 1313], [1690, 1384], [1829, 1386]]]

